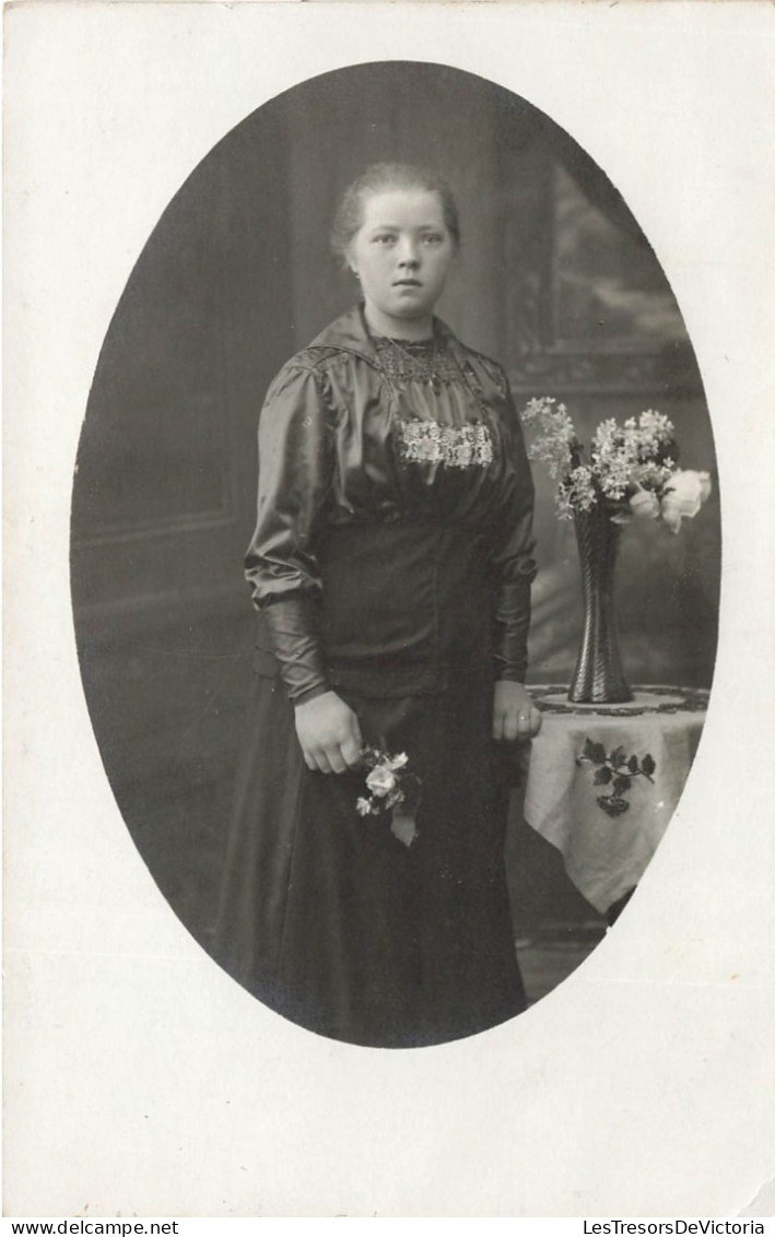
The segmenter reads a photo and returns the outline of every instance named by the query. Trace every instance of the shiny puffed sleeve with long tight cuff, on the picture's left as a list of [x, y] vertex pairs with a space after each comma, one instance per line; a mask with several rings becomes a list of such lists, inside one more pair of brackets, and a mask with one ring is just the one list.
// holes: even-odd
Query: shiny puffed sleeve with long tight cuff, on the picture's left
[[318, 637], [316, 546], [333, 473], [324, 377], [291, 361], [259, 419], [259, 495], [245, 576], [295, 704], [328, 689]]

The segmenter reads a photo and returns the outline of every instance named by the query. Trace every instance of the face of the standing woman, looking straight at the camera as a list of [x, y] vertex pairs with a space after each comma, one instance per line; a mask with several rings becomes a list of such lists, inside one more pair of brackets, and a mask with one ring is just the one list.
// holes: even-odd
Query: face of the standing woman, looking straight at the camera
[[348, 251], [360, 280], [366, 318], [386, 334], [402, 323], [431, 327], [454, 257], [437, 193], [388, 189], [363, 203], [363, 223]]

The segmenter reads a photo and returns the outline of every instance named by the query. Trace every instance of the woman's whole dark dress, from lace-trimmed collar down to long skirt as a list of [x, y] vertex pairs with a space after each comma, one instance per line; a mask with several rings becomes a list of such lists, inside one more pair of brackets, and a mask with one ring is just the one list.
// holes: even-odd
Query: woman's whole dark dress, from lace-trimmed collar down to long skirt
[[[503, 371], [436, 322], [373, 339], [355, 309], [272, 383], [246, 574], [255, 717], [217, 956], [267, 1006], [373, 1047], [519, 1013], [495, 679], [524, 682], [532, 484]], [[336, 690], [421, 784], [417, 835], [360, 815], [365, 771], [311, 772], [293, 706]]]

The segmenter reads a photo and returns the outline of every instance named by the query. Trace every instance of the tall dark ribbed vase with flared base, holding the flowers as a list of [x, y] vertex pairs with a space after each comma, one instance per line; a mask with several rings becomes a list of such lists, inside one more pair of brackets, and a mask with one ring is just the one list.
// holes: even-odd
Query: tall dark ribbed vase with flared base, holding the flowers
[[574, 516], [584, 599], [584, 630], [568, 700], [618, 704], [631, 700], [619, 656], [614, 573], [621, 528], [600, 503]]

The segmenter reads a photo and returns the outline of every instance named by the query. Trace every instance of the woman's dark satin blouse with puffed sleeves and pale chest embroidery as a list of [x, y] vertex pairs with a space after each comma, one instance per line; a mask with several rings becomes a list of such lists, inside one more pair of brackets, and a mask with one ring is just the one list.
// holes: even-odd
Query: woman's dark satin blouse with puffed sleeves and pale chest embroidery
[[519, 418], [500, 366], [435, 329], [374, 339], [344, 314], [261, 412], [246, 575], [275, 646], [277, 602], [307, 607], [295, 622], [319, 682], [379, 694], [390, 666], [396, 691], [441, 689], [491, 664], [493, 625], [511, 633], [498, 673], [524, 675], [534, 490]]

